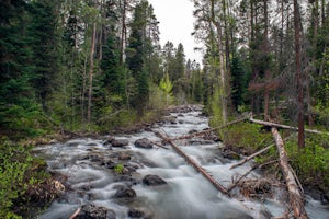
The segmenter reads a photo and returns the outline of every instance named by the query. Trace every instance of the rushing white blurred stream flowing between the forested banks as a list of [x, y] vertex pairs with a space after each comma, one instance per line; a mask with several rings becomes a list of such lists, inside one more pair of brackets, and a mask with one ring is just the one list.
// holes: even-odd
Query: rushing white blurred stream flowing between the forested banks
[[[104, 136], [37, 147], [35, 154], [46, 160], [48, 170], [67, 176], [65, 194], [37, 218], [68, 219], [81, 207], [84, 212], [77, 218], [248, 219], [284, 215], [287, 194], [280, 186], [270, 197], [247, 198], [235, 188], [234, 198], [228, 198], [170, 146], [164, 150], [134, 145], [141, 138], [160, 141], [154, 131], [175, 137], [208, 128], [208, 118], [195, 106], [167, 118], [150, 129], [114, 136], [124, 146], [114, 147], [109, 143], [110, 136]], [[229, 170], [237, 161], [224, 158], [220, 142], [213, 140], [193, 138], [175, 143], [225, 187], [252, 164]], [[261, 174], [252, 172], [248, 177], [259, 178]], [[164, 182], [152, 184], [145, 180], [148, 175]], [[310, 218], [329, 218], [329, 207], [308, 196], [306, 210]]]

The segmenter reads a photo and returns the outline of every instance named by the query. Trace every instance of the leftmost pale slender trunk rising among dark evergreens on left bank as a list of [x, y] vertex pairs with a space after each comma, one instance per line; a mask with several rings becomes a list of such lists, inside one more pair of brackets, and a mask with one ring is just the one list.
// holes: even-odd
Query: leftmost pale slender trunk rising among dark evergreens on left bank
[[92, 99], [92, 79], [93, 79], [93, 55], [95, 47], [95, 34], [97, 34], [97, 23], [93, 23], [92, 26], [92, 37], [91, 37], [91, 50], [90, 50], [90, 66], [89, 66], [89, 89], [88, 89], [88, 112], [87, 120], [91, 123], [91, 99]]

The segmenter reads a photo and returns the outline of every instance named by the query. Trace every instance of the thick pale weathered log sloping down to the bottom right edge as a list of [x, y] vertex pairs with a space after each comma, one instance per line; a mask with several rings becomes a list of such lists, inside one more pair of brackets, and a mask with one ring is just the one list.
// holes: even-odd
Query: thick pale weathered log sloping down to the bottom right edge
[[294, 217], [298, 219], [306, 219], [308, 218], [308, 216], [304, 207], [304, 199], [300, 194], [300, 191], [298, 189], [294, 174], [290, 169], [287, 153], [284, 149], [283, 140], [275, 127], [272, 127], [271, 131], [277, 148], [279, 158], [280, 158], [279, 165], [287, 186], [290, 204], [292, 206], [292, 209], [294, 210]]

